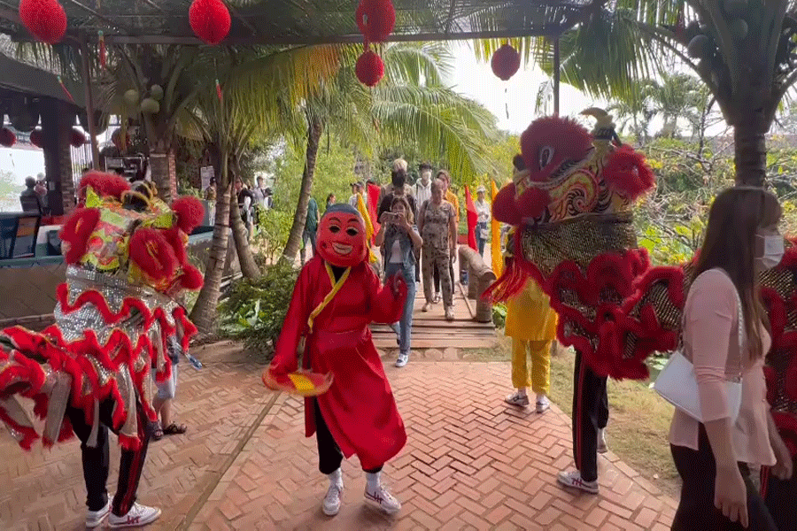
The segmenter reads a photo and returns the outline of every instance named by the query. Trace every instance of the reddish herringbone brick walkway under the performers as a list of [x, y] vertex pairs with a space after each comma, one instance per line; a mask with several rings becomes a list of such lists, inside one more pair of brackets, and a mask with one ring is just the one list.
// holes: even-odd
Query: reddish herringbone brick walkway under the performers
[[[178, 391], [190, 432], [152, 443], [139, 489], [165, 509], [150, 529], [669, 529], [675, 502], [611, 453], [600, 458], [600, 496], [556, 486], [572, 465], [569, 419], [555, 406], [544, 415], [505, 406], [505, 363], [388, 366], [409, 442], [384, 474], [403, 510], [389, 518], [363, 506], [352, 458], [343, 507], [328, 519], [300, 402], [268, 393], [259, 366], [233, 362], [241, 355], [231, 345], [197, 356], [205, 369], [183, 364]], [[23, 453], [0, 435], [0, 451], [0, 481], [12, 485], [0, 493], [0, 528], [84, 528], [76, 443]]]

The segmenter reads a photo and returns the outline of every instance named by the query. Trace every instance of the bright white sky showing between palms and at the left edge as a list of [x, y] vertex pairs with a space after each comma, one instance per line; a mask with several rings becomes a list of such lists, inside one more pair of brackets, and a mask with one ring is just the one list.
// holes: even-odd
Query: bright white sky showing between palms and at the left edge
[[[538, 89], [548, 76], [536, 67], [521, 67], [511, 80], [501, 81], [492, 73], [489, 63], [476, 60], [469, 42], [453, 42], [452, 47], [452, 88], [487, 107], [499, 119], [499, 128], [520, 134], [536, 118]], [[561, 85], [561, 115], [575, 116], [593, 104], [605, 105], [593, 102], [568, 85]], [[552, 111], [553, 103], [549, 106], [549, 112]], [[43, 152], [0, 148], [0, 171], [12, 173], [13, 181], [21, 187], [28, 175], [44, 172]], [[0, 205], [0, 210], [3, 208], [4, 205]]]

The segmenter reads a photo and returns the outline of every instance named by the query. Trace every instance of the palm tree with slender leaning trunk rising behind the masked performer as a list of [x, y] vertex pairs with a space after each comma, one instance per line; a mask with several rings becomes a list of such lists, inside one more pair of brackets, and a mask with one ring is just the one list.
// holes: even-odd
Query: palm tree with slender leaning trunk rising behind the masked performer
[[357, 47], [347, 47], [347, 63], [320, 83], [302, 106], [306, 165], [283, 257], [296, 258], [321, 135], [334, 128], [344, 142], [373, 155], [379, 145], [404, 145], [445, 160], [453, 175], [471, 179], [484, 173], [484, 142], [495, 137], [495, 118], [484, 107], [444, 86], [451, 56], [439, 43], [394, 43], [383, 48], [385, 76], [367, 89], [354, 74]]

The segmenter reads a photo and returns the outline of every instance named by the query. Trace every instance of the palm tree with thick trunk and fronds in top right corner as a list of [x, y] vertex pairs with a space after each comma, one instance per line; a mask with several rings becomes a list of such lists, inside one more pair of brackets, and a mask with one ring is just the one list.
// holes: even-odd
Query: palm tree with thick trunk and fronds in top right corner
[[[560, 38], [562, 81], [588, 94], [631, 98], [634, 81], [677, 57], [710, 90], [733, 128], [736, 181], [762, 186], [766, 141], [778, 107], [797, 81], [794, 0], [617, 0], [600, 4]], [[553, 42], [516, 42], [544, 70]], [[495, 43], [481, 43], [484, 57]]]

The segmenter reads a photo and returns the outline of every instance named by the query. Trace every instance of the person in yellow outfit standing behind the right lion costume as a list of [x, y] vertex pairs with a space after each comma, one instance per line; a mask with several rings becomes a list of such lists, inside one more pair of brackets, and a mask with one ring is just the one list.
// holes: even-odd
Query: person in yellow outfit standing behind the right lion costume
[[556, 337], [556, 312], [536, 281], [529, 279], [522, 292], [507, 302], [505, 334], [512, 338], [512, 385], [517, 389], [507, 396], [507, 404], [528, 406], [531, 388], [537, 394], [537, 412], [545, 412], [550, 407], [551, 344]]

